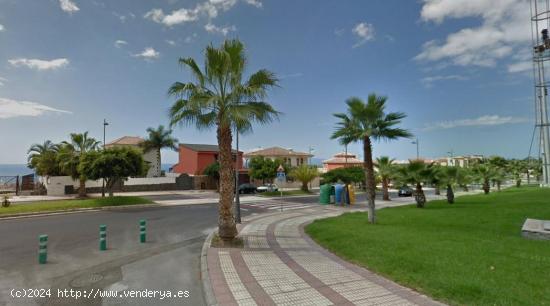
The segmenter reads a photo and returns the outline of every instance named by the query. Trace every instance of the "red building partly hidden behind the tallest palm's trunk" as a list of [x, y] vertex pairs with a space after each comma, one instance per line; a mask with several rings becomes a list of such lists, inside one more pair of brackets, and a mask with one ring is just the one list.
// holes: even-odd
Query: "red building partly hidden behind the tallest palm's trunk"
[[[179, 145], [179, 162], [172, 167], [172, 172], [189, 175], [202, 175], [204, 169], [218, 160], [220, 149], [216, 145], [189, 144]], [[243, 152], [233, 150], [233, 161], [239, 169], [243, 168]], [[240, 170], [242, 171], [242, 170]]]

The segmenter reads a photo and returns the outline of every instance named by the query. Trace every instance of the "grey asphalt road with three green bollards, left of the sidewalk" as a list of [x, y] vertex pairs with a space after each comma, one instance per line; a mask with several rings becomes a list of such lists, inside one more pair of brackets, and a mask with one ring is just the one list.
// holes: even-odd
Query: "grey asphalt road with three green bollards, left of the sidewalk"
[[[249, 209], [243, 215], [254, 212]], [[148, 241], [139, 243], [140, 219]], [[124, 209], [0, 220], [0, 305], [120, 305], [117, 299], [11, 298], [11, 289], [94, 288], [187, 290], [183, 299], [131, 299], [132, 305], [203, 305], [200, 252], [217, 223], [215, 204]], [[98, 246], [107, 225], [108, 250]], [[38, 235], [47, 234], [48, 264], [37, 263]], [[52, 293], [54, 293], [52, 291]], [[57, 291], [55, 292], [57, 294]]]

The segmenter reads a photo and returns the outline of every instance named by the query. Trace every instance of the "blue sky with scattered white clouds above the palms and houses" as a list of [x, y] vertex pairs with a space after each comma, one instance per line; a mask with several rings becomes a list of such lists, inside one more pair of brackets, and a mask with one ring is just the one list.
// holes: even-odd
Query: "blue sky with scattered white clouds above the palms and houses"
[[[231, 38], [246, 46], [247, 74], [280, 79], [268, 102], [283, 114], [242, 135], [244, 151], [312, 147], [329, 158], [343, 151], [332, 114], [374, 92], [407, 114], [401, 126], [423, 157], [529, 153], [529, 1], [0, 0], [0, 163], [72, 132], [102, 140], [104, 118], [107, 142], [168, 125], [169, 86], [192, 80], [178, 59], [202, 63], [207, 45]], [[173, 135], [216, 143], [214, 130]], [[411, 142], [375, 143], [374, 154], [414, 158]]]

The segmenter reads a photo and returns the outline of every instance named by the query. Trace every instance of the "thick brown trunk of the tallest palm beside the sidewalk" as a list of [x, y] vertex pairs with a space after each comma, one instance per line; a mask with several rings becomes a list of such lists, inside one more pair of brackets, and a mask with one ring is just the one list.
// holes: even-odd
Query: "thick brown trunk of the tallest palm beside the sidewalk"
[[233, 218], [233, 159], [231, 152], [231, 127], [218, 126], [218, 146], [220, 149], [220, 202], [218, 204], [218, 235], [230, 242], [237, 236], [237, 226]]

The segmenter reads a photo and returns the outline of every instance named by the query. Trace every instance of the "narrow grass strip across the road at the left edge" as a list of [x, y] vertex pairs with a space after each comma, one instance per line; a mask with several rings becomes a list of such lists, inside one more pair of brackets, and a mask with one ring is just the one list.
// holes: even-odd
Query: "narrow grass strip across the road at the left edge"
[[41, 201], [12, 204], [10, 207], [0, 207], [0, 215], [151, 203], [153, 203], [153, 201], [140, 197], [106, 197], [84, 200]]

